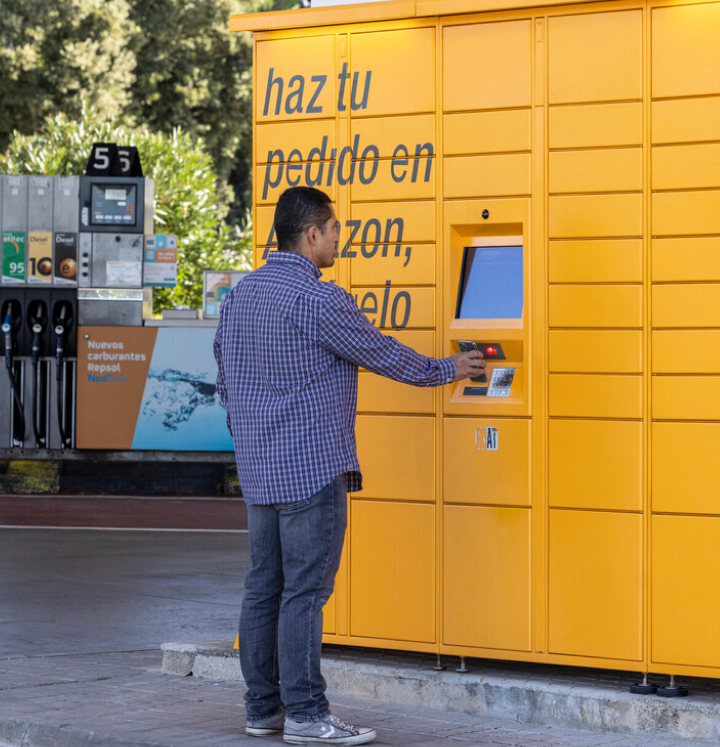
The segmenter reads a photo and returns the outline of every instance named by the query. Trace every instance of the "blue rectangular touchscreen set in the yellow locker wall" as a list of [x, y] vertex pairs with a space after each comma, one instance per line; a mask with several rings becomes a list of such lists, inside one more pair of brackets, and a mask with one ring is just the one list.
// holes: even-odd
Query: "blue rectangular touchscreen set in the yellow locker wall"
[[457, 319], [522, 319], [522, 246], [466, 246]]

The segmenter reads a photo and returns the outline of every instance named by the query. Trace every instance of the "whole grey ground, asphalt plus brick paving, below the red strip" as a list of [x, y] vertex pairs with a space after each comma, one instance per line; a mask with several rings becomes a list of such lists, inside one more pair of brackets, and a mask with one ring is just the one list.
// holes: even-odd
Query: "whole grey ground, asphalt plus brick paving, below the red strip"
[[[0, 529], [0, 747], [257, 747], [237, 683], [160, 673], [234, 631], [246, 564], [244, 534]], [[331, 697], [379, 745], [688, 746]]]

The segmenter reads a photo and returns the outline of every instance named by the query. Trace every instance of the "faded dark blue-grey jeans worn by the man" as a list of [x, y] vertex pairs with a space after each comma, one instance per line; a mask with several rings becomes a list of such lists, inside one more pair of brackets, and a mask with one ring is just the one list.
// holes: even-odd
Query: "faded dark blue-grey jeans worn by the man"
[[248, 720], [284, 705], [296, 721], [330, 711], [320, 674], [322, 608], [340, 565], [345, 475], [296, 503], [248, 506], [250, 560], [240, 615]]

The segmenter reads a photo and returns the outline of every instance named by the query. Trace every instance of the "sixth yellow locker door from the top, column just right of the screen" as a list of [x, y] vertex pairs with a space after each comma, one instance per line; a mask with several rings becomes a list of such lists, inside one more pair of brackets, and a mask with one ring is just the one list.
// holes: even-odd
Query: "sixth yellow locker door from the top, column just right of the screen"
[[556, 285], [549, 291], [551, 327], [642, 327], [642, 286]]

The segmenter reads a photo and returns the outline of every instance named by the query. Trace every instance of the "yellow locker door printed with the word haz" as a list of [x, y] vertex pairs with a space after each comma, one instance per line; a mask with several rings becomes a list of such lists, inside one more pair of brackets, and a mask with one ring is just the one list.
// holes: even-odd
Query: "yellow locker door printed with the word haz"
[[334, 116], [334, 34], [259, 41], [255, 49], [257, 121]]

